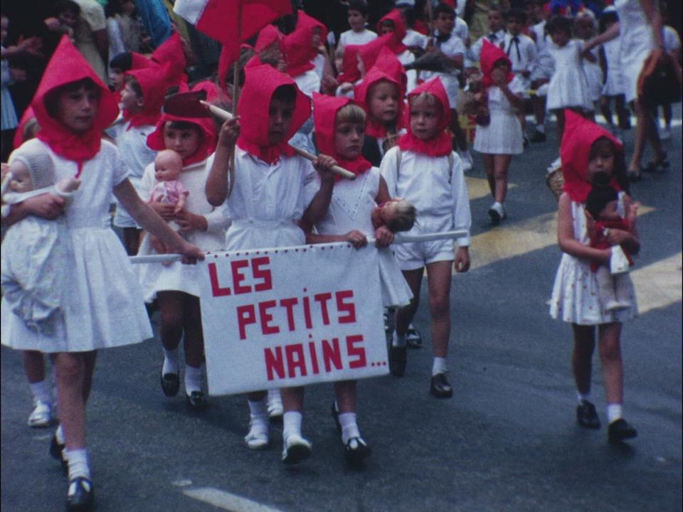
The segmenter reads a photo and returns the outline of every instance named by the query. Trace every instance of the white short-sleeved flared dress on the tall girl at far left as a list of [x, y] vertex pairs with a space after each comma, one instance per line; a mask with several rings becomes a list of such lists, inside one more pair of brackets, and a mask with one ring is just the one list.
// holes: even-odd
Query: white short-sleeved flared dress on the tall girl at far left
[[[75, 176], [75, 161], [42, 146], [55, 164], [55, 180]], [[68, 242], [68, 278], [63, 318], [52, 335], [33, 332], [2, 299], [1, 342], [21, 350], [80, 352], [139, 343], [152, 337], [142, 289], [123, 245], [109, 227], [112, 188], [125, 180], [127, 169], [113, 144], [102, 141], [100, 152], [83, 165], [81, 185], [64, 211]]]

